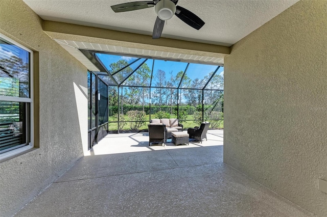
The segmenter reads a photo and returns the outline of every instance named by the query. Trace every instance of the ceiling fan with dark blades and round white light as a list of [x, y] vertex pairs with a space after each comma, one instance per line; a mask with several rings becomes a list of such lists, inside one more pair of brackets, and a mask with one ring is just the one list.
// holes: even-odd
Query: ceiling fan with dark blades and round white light
[[155, 13], [158, 15], [154, 23], [152, 38], [158, 39], [164, 29], [165, 20], [169, 20], [174, 14], [186, 24], [196, 30], [201, 29], [204, 21], [191, 11], [176, 6], [178, 0], [152, 0], [141, 2], [129, 2], [111, 6], [111, 9], [118, 12], [134, 11], [144, 8], [154, 7]]

